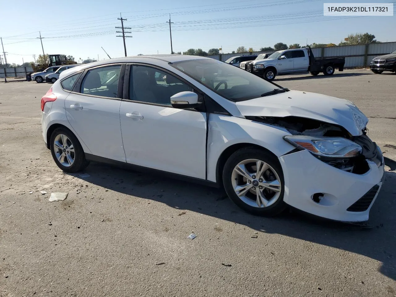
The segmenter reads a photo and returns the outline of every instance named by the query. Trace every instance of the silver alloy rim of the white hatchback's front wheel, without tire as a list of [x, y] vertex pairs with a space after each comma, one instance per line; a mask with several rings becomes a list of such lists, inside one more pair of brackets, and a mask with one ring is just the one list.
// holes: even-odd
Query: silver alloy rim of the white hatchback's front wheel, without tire
[[231, 179], [235, 193], [249, 206], [266, 208], [280, 197], [282, 184], [278, 173], [261, 160], [248, 159], [238, 163]]

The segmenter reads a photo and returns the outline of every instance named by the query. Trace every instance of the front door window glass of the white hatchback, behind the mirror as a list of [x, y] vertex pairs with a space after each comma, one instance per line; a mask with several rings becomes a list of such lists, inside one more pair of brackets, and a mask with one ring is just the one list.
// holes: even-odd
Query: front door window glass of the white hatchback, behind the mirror
[[171, 105], [171, 96], [193, 91], [175, 76], [148, 66], [132, 66], [129, 78], [129, 99], [147, 103]]

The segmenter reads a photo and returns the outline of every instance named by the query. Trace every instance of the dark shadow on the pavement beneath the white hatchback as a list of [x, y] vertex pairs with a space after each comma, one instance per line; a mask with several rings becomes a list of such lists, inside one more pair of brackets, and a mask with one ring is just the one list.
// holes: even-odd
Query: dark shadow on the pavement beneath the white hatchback
[[295, 210], [286, 210], [277, 217], [257, 217], [242, 211], [219, 189], [169, 179], [162, 175], [95, 163], [88, 166], [86, 173], [90, 175], [84, 178], [87, 182], [122, 194], [232, 221], [259, 232], [282, 234], [364, 255], [381, 261], [383, 264], [379, 271], [396, 280], [395, 172], [385, 173], [384, 185], [371, 208], [367, 222], [372, 228], [328, 221]]

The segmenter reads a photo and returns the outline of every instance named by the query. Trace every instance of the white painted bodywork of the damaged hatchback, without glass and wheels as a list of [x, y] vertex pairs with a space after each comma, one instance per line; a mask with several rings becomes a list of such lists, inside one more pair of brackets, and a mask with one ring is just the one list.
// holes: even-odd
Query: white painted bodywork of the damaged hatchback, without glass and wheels
[[[354, 213], [346, 211], [346, 208], [373, 185], [382, 185], [383, 165], [377, 167], [374, 162], [368, 161], [369, 170], [358, 175], [327, 165], [308, 150], [288, 154], [295, 147], [282, 138], [291, 135], [287, 129], [245, 118], [254, 115], [299, 116], [336, 124], [352, 135], [360, 135], [361, 123], [355, 116], [358, 114], [359, 120], [363, 122], [367, 122], [367, 118], [350, 101], [289, 91], [232, 102], [169, 65], [188, 59], [208, 58], [165, 55], [127, 57], [112, 59], [111, 62], [147, 63], [169, 70], [197, 86], [230, 115], [206, 115], [173, 107], [80, 95], [63, 90], [60, 81], [57, 81], [52, 88], [57, 99], [46, 103], [42, 113], [44, 141], [49, 141], [48, 128], [53, 124], [61, 124], [76, 135], [87, 154], [213, 182], [220, 182], [217, 179], [217, 163], [222, 152], [232, 145], [253, 144], [271, 151], [279, 158], [284, 172], [284, 201], [290, 206], [339, 221], [368, 219], [369, 209]], [[64, 71], [60, 78], [107, 64], [109, 61], [79, 65]], [[82, 109], [71, 109], [70, 105], [80, 105]], [[316, 192], [325, 194], [320, 203], [312, 201], [312, 194]]]

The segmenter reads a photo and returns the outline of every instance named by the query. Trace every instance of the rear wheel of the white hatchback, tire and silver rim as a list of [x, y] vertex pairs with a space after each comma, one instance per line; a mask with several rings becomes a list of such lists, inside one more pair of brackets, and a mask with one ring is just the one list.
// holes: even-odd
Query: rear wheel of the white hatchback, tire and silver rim
[[51, 134], [51, 154], [56, 165], [65, 172], [81, 171], [89, 164], [84, 150], [74, 134], [66, 128], [57, 128]]

